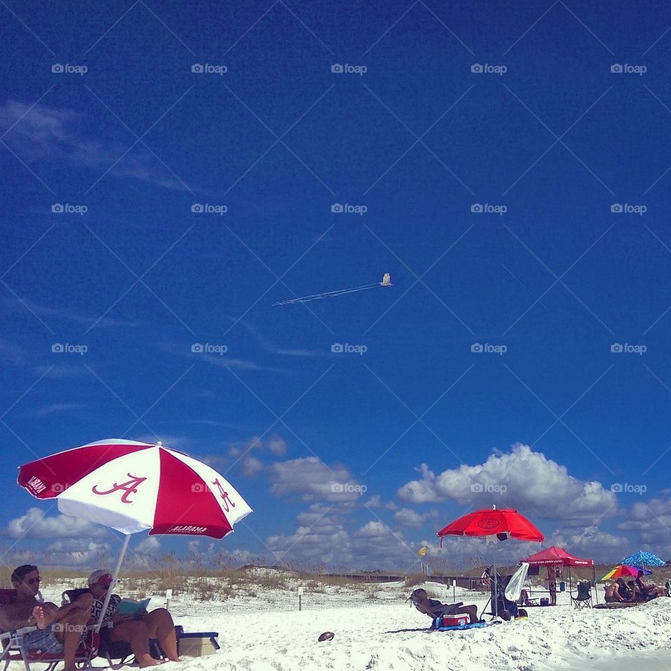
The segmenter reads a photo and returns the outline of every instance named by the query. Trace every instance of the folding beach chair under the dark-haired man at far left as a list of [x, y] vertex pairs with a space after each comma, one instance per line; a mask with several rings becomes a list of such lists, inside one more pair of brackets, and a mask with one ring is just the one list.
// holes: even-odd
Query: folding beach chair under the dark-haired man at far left
[[[10, 606], [16, 603], [16, 598], [15, 589], [0, 589], [0, 606]], [[58, 663], [63, 661], [62, 653], [44, 653], [27, 649], [24, 637], [36, 630], [37, 627], [22, 627], [0, 634], [3, 647], [0, 662], [5, 663], [3, 671], [7, 671], [10, 662], [23, 662], [26, 671], [31, 671], [30, 665], [34, 663], [46, 664], [45, 671], [54, 671]], [[75, 664], [80, 668], [90, 667], [91, 658], [96, 656], [98, 642], [99, 636], [89, 628], [75, 654]]]

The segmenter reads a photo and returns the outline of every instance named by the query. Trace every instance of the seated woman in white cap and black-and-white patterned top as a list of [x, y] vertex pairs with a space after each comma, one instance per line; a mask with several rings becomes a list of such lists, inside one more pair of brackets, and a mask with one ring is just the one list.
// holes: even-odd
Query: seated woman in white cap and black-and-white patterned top
[[[93, 595], [93, 605], [90, 610], [90, 622], [99, 620], [103, 609], [105, 595], [110, 589], [113, 577], [104, 570], [97, 570], [89, 575], [89, 591]], [[139, 614], [122, 615], [117, 613], [121, 597], [117, 594], [110, 596], [110, 602], [105, 610], [103, 622], [112, 621], [114, 626], [110, 631], [110, 641], [126, 641], [131, 644], [131, 650], [136, 656], [140, 668], [163, 663], [164, 660], [154, 659], [149, 651], [150, 638], [157, 638], [161, 648], [173, 662], [182, 661], [177, 654], [177, 637], [173, 617], [165, 608], [157, 608], [152, 612], [141, 611]]]

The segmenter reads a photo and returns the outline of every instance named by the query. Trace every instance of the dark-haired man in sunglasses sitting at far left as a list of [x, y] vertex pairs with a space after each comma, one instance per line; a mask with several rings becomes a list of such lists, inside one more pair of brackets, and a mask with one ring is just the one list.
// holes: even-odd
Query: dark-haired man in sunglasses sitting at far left
[[75, 654], [89, 619], [93, 598], [82, 595], [74, 603], [57, 607], [36, 599], [40, 589], [40, 573], [36, 566], [24, 564], [12, 573], [17, 591], [16, 603], [0, 607], [0, 628], [8, 631], [38, 626], [24, 636], [28, 650], [63, 654], [65, 671], [75, 671]]

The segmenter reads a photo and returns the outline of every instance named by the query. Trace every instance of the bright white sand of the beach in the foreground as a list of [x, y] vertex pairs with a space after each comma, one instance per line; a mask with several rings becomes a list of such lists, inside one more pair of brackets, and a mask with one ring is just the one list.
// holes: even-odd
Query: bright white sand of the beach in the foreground
[[[377, 598], [366, 598], [371, 589]], [[427, 589], [451, 601], [452, 589], [431, 584]], [[216, 603], [176, 598], [171, 602], [175, 622], [187, 631], [218, 631], [221, 645], [216, 655], [187, 659], [180, 670], [603, 671], [606, 663], [609, 671], [671, 669], [671, 652], [654, 655], [671, 651], [671, 598], [627, 609], [576, 611], [564, 593], [556, 607], [528, 609], [527, 621], [437, 632], [426, 629], [427, 616], [403, 603], [401, 594], [411, 590], [401, 584], [329, 591], [305, 593], [302, 612], [296, 592], [262, 596], [259, 589], [255, 598]], [[55, 599], [57, 592], [47, 589], [45, 597]], [[482, 608], [486, 596], [458, 589], [457, 600]], [[154, 598], [152, 607], [162, 601]], [[333, 631], [335, 638], [317, 642], [324, 631]], [[604, 656], [608, 661], [600, 661]], [[96, 659], [94, 666], [101, 668], [103, 661]], [[168, 667], [174, 665], [163, 668]]]

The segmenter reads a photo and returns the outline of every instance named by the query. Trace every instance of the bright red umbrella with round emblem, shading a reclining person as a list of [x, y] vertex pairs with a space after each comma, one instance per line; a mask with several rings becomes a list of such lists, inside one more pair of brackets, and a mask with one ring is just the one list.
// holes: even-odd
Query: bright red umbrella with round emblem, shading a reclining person
[[[543, 542], [544, 535], [531, 524], [524, 515], [512, 508], [496, 510], [475, 510], [459, 519], [455, 519], [442, 528], [438, 535], [442, 544], [444, 536], [498, 536], [498, 540], [505, 540], [509, 535], [517, 540], [531, 540]], [[500, 537], [503, 535], [503, 538]], [[494, 544], [494, 615], [498, 616], [498, 592], [496, 589], [496, 544]]]

